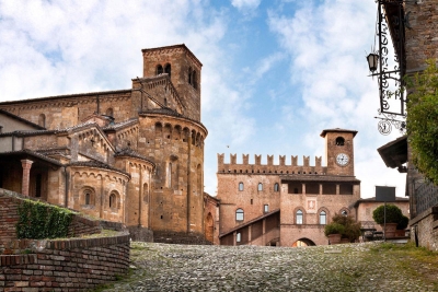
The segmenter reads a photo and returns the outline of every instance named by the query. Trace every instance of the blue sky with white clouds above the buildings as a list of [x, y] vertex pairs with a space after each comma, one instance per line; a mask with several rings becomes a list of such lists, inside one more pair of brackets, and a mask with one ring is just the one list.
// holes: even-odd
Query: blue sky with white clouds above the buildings
[[[377, 149], [373, 0], [0, 0], [0, 101], [131, 87], [141, 49], [185, 44], [203, 62], [205, 191], [217, 190], [217, 154], [324, 156], [324, 129], [357, 130], [361, 197], [395, 186]], [[323, 161], [323, 165], [326, 162]]]

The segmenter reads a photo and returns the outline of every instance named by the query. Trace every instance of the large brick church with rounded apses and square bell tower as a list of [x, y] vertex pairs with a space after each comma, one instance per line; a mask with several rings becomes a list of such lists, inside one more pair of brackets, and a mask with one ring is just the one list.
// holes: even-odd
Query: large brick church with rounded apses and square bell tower
[[0, 188], [137, 240], [204, 238], [203, 65], [185, 45], [142, 59], [131, 89], [0, 103]]

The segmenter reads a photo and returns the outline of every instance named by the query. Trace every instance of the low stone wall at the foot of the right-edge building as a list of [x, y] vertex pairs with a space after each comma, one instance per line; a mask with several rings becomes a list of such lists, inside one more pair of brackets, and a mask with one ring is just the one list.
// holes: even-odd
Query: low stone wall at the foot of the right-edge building
[[438, 252], [438, 207], [433, 207], [410, 221], [411, 240], [430, 250]]

